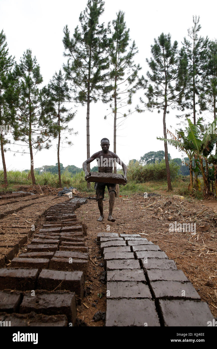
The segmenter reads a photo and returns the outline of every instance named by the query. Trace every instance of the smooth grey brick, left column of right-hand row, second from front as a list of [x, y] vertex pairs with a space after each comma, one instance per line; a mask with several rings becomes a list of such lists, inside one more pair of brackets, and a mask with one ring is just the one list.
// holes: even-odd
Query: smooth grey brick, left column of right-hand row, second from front
[[107, 282], [107, 298], [152, 298], [148, 285], [138, 281]]

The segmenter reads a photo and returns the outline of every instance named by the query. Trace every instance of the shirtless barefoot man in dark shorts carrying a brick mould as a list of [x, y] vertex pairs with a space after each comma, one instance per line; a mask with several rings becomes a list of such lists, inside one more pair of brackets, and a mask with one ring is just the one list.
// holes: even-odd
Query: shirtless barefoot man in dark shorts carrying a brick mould
[[[126, 172], [127, 167], [126, 165], [119, 159], [119, 157], [113, 153], [112, 151], [109, 151], [109, 140], [108, 138], [103, 138], [101, 140], [101, 148], [102, 150], [98, 151], [97, 153], [93, 154], [89, 159], [87, 159], [83, 163], [83, 170], [85, 172], [85, 179], [90, 176], [90, 173], [87, 172], [87, 164], [92, 162], [96, 159], [98, 162], [98, 172], [107, 172], [112, 173], [113, 171], [113, 163], [116, 161], [118, 164], [120, 164], [124, 171], [124, 179], [126, 179]], [[112, 211], [114, 208], [115, 203], [115, 197], [117, 197], [116, 190], [115, 190], [115, 184], [113, 183], [95, 183], [94, 189], [96, 189], [96, 200], [98, 202], [98, 207], [100, 210], [100, 217], [98, 219], [99, 222], [102, 222], [104, 215], [103, 215], [103, 198], [104, 198], [104, 192], [105, 188], [108, 188], [109, 191], [109, 216], [108, 221], [115, 222], [115, 218], [112, 217]]]

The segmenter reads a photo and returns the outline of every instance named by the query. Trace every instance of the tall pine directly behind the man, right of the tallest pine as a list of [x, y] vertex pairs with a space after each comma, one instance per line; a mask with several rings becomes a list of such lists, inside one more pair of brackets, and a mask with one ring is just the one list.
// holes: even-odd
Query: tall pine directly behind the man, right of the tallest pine
[[[109, 38], [109, 59], [110, 59], [110, 80], [113, 102], [110, 104], [114, 114], [114, 153], [116, 154], [116, 131], [122, 124], [123, 118], [130, 114], [122, 112], [121, 109], [132, 103], [132, 95], [139, 88], [137, 79], [139, 64], [134, 64], [133, 58], [138, 53], [135, 41], [130, 47], [130, 29], [126, 30], [124, 12], [119, 11], [117, 17], [112, 21], [113, 32]], [[126, 110], [125, 110], [126, 111]], [[107, 117], [107, 116], [106, 116]], [[105, 119], [106, 119], [105, 117]], [[121, 119], [121, 121], [117, 120]], [[116, 163], [114, 163], [114, 173], [117, 173]]]

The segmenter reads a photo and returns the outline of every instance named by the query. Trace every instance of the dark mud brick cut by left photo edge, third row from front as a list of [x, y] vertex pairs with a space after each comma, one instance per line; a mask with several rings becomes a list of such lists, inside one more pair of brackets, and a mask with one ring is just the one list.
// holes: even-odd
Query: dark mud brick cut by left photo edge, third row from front
[[38, 269], [0, 269], [0, 290], [35, 290]]

